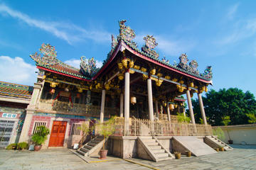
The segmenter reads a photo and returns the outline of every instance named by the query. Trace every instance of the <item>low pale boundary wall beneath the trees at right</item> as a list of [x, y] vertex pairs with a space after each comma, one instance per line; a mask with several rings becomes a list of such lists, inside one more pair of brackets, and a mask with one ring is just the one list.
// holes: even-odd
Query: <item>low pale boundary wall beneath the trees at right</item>
[[233, 140], [233, 144], [256, 145], [256, 125], [230, 125], [230, 126], [215, 126], [221, 128], [225, 134], [223, 142], [228, 143], [228, 140]]

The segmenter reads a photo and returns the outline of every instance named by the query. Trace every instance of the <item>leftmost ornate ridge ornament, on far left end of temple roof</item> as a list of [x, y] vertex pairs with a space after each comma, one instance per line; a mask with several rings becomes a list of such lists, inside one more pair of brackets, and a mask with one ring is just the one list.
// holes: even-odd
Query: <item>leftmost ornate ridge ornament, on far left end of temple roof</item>
[[[40, 53], [35, 52], [30, 57], [38, 64], [54, 65], [58, 62], [55, 47], [43, 43], [39, 49]], [[43, 57], [42, 57], [43, 55]]]

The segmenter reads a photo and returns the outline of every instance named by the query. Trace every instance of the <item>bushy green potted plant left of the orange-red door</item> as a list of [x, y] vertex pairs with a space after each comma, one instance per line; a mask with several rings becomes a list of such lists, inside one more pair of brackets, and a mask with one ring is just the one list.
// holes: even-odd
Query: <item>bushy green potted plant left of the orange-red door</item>
[[33, 134], [31, 137], [31, 140], [35, 143], [34, 150], [38, 151], [41, 149], [42, 144], [46, 142], [47, 135], [49, 135], [50, 130], [46, 128], [45, 126], [38, 126], [36, 128], [36, 133]]

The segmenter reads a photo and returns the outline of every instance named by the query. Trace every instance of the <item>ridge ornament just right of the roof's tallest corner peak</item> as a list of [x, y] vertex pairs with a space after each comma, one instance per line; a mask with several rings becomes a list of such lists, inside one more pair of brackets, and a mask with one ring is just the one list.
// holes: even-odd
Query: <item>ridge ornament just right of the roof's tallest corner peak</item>
[[156, 42], [156, 38], [154, 38], [153, 35], [146, 35], [143, 40], [145, 40], [145, 45], [142, 46], [142, 51], [158, 58], [159, 54], [155, 50], [153, 50], [154, 47], [158, 45], [158, 43]]

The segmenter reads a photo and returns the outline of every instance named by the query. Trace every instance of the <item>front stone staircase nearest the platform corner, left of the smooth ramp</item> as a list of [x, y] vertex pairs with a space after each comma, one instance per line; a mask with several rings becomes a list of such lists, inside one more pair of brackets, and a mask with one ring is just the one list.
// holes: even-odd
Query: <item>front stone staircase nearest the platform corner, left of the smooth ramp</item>
[[[138, 137], [139, 144], [142, 145], [148, 156], [155, 162], [162, 160], [173, 159], [174, 155], [169, 152], [168, 149], [164, 148], [163, 145], [156, 139], [156, 137]], [[141, 154], [139, 157], [149, 159], [145, 155]]]

